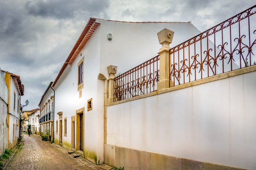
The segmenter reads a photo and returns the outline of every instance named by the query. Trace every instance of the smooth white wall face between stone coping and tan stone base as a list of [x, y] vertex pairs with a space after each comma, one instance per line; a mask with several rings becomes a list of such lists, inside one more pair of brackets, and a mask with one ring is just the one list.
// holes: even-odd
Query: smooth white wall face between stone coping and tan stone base
[[256, 72], [107, 107], [107, 143], [256, 169]]

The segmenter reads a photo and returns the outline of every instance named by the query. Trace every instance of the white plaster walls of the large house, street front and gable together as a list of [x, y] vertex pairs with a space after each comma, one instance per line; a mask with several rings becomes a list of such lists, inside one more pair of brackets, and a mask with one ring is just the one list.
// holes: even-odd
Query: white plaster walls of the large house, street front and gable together
[[[97, 155], [97, 160], [103, 162], [103, 80], [98, 80], [99, 73], [109, 77], [107, 66], [118, 66], [119, 72], [125, 72], [144, 61], [157, 56], [161, 45], [157, 39], [157, 32], [164, 28], [175, 31], [173, 44], [193, 37], [200, 32], [191, 23], [123, 23], [96, 19], [100, 23], [92, 37], [78, 54], [71, 70], [66, 77], [55, 85], [55, 116], [54, 138], [56, 134], [56, 120], [59, 122], [58, 112], [62, 112], [62, 133], [64, 118], [67, 117], [67, 136], [62, 134], [62, 146], [71, 149], [71, 117], [76, 110], [85, 107], [85, 152]], [[109, 41], [107, 34], [112, 33]], [[186, 34], [184, 34], [186, 33]], [[80, 56], [80, 54], [82, 54]], [[84, 57], [84, 87], [82, 97], [79, 98], [78, 62]], [[66, 71], [69, 68], [66, 68]], [[64, 71], [62, 75], [65, 75]], [[93, 110], [87, 111], [87, 100], [93, 99]], [[58, 124], [59, 126], [59, 124]], [[59, 128], [59, 127], [58, 127]]]

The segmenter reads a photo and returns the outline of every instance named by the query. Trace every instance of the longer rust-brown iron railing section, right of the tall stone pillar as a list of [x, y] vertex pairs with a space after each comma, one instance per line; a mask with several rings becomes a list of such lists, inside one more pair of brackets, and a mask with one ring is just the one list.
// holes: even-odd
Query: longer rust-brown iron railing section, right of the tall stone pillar
[[174, 86], [256, 64], [256, 5], [169, 50]]

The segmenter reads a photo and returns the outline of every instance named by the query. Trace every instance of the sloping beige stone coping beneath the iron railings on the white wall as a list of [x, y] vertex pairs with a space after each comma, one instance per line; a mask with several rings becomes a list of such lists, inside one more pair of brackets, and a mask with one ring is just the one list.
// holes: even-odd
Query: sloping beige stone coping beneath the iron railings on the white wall
[[233, 77], [233, 76], [236, 76], [236, 75], [249, 73], [249, 72], [254, 72], [254, 71], [256, 71], [256, 65], [240, 68], [240, 69], [237, 69], [237, 70], [234, 70], [234, 71], [218, 74], [218, 75], [215, 75], [215, 76], [211, 76], [211, 77], [207, 77], [207, 78], [204, 78], [204, 79], [192, 81], [192, 82], [189, 82], [189, 83], [181, 84], [181, 85], [170, 87], [170, 88], [167, 88], [167, 89], [154, 91], [154, 92], [151, 92], [151, 93], [148, 93], [148, 94], [135, 96], [135, 97], [124, 99], [124, 100], [121, 100], [121, 101], [118, 101], [118, 102], [109, 103], [109, 104], [107, 104], [107, 106], [112, 106], [112, 105], [116, 105], [116, 104], [130, 102], [130, 101], [134, 101], [134, 100], [137, 100], [137, 99], [150, 97], [150, 96], [155, 96], [155, 95], [167, 93], [167, 92], [170, 92], [170, 91], [179, 90], [179, 89], [183, 89], [183, 88], [187, 88], [187, 87], [191, 87], [191, 86], [196, 86], [196, 85], [199, 85], [199, 84], [208, 83], [208, 82], [212, 82], [212, 81], [216, 81], [216, 80], [226, 79], [228, 77]]

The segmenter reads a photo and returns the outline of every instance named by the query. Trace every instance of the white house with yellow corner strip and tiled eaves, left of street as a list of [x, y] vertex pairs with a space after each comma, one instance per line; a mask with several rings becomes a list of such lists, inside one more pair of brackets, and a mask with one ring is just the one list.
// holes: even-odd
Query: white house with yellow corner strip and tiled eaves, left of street
[[24, 86], [21, 83], [20, 76], [7, 71], [5, 82], [8, 89], [8, 113], [7, 113], [7, 148], [15, 146], [19, 137], [19, 119], [20, 119], [20, 97], [24, 95]]

